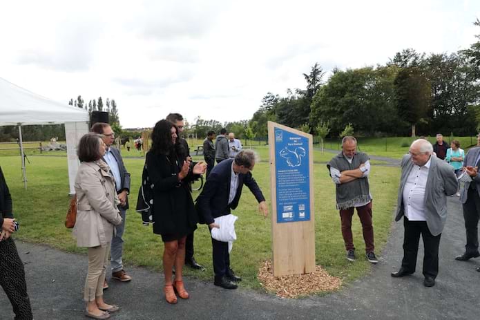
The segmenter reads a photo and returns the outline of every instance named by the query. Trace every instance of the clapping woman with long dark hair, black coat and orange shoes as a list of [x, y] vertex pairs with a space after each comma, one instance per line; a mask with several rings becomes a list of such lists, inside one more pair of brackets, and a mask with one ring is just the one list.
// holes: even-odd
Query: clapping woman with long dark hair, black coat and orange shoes
[[207, 169], [204, 162], [191, 167], [183, 146], [175, 124], [160, 120], [153, 128], [152, 148], [146, 153], [144, 167], [147, 172], [144, 188], [150, 188], [153, 194], [153, 233], [160, 234], [164, 242], [164, 293], [168, 303], [177, 303], [175, 291], [182, 299], [190, 297], [182, 278], [185, 241], [197, 228], [198, 218], [189, 184]]

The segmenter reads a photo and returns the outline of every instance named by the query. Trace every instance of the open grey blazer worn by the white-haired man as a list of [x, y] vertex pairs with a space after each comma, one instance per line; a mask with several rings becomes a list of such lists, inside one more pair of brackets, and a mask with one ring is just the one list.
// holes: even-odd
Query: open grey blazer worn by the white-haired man
[[[447, 162], [432, 155], [428, 170], [427, 185], [425, 186], [425, 217], [428, 229], [434, 236], [441, 234], [447, 220], [447, 196], [457, 192], [459, 182], [453, 167]], [[402, 174], [400, 179], [399, 196], [396, 204], [395, 221], [401, 219], [403, 209], [403, 188], [414, 164], [410, 154], [403, 156], [401, 162]]]

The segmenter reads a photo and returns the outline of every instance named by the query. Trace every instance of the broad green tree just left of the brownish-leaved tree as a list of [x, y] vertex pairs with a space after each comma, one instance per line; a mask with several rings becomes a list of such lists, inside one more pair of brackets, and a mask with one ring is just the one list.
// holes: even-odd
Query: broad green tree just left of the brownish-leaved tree
[[397, 70], [396, 66], [336, 69], [314, 97], [310, 126], [328, 122], [334, 136], [349, 123], [362, 135], [401, 129], [394, 102]]

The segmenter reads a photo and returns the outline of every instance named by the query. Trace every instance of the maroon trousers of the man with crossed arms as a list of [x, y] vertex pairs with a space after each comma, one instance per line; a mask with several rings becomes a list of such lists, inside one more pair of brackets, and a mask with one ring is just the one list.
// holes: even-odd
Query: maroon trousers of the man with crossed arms
[[[372, 225], [372, 201], [362, 207], [356, 207], [356, 212], [362, 223], [363, 240], [365, 241], [365, 252], [374, 252], [374, 227]], [[342, 220], [342, 236], [346, 250], [355, 250], [354, 237], [352, 235], [352, 216], [354, 207], [340, 210]]]

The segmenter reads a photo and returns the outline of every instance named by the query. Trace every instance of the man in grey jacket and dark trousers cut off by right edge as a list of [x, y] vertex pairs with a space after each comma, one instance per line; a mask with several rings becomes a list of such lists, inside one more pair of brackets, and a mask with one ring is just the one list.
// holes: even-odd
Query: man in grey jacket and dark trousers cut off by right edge
[[[480, 134], [477, 140], [480, 142]], [[478, 167], [480, 165], [480, 147], [470, 149], [463, 161], [463, 170], [472, 181], [465, 182], [460, 194], [460, 202], [463, 204], [463, 219], [465, 220], [465, 233], [467, 243], [465, 252], [456, 256], [458, 261], [467, 261], [470, 258], [477, 258], [479, 253], [479, 216], [480, 216], [480, 176]], [[480, 272], [480, 267], [477, 267]]]

